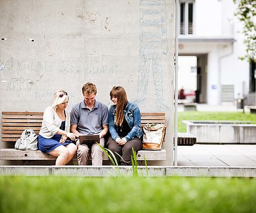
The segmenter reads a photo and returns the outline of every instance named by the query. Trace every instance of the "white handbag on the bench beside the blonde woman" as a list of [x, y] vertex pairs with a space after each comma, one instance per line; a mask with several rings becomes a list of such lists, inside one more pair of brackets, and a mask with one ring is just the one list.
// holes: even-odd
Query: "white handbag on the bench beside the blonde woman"
[[14, 147], [16, 150], [37, 150], [37, 138], [33, 129], [25, 129]]

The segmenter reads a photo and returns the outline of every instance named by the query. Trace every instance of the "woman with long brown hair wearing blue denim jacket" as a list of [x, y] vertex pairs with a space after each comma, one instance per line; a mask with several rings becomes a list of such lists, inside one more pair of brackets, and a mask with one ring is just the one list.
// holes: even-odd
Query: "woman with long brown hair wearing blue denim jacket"
[[142, 147], [141, 112], [137, 104], [127, 100], [122, 86], [113, 87], [110, 100], [114, 104], [109, 109], [111, 136], [107, 146], [113, 151], [119, 165], [131, 165], [132, 148], [137, 152]]

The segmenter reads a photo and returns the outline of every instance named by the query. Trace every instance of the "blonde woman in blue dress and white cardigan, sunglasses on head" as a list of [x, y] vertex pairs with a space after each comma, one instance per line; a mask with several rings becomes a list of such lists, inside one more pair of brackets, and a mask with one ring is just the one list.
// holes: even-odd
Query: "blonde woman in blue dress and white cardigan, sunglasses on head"
[[65, 110], [68, 101], [67, 92], [55, 92], [52, 104], [44, 110], [38, 136], [38, 149], [56, 156], [55, 165], [66, 165], [77, 153], [77, 146], [72, 142], [77, 135], [69, 132], [70, 113]]

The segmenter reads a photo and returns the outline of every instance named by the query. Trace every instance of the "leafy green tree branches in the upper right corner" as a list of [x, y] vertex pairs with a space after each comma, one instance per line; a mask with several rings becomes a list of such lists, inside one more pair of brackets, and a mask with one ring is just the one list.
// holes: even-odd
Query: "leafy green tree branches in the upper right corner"
[[237, 5], [235, 16], [244, 24], [242, 33], [245, 36], [246, 54], [240, 59], [256, 62], [256, 1], [233, 0]]

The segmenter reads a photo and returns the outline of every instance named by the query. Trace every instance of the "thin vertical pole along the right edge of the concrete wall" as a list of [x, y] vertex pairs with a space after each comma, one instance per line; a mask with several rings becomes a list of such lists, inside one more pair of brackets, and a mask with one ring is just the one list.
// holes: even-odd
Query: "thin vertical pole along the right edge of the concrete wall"
[[175, 1], [175, 54], [174, 54], [174, 66], [175, 66], [175, 95], [174, 95], [174, 166], [178, 165], [177, 151], [178, 151], [178, 6], [179, 1]]

